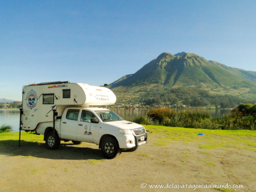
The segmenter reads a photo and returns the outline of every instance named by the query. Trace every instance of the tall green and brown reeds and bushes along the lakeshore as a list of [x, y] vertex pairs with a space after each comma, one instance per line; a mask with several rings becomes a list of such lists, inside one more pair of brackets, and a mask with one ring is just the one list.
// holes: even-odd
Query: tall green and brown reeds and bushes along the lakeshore
[[[134, 122], [147, 125], [164, 125], [210, 130], [256, 130], [253, 110], [256, 105], [241, 104], [222, 118], [212, 118], [205, 111], [152, 109], [145, 115], [136, 117]], [[247, 114], [247, 115], [246, 115]], [[252, 114], [252, 115], [248, 115]]]

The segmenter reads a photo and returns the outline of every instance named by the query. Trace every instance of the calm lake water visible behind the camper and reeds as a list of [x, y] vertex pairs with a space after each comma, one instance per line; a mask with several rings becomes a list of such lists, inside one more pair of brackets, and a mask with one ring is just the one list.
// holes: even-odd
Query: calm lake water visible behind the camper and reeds
[[[125, 109], [112, 109], [116, 114], [124, 120], [133, 120], [136, 116], [143, 115], [147, 110], [125, 110]], [[221, 117], [224, 114], [230, 113], [231, 110], [203, 110], [211, 115], [211, 117]], [[9, 124], [13, 127], [14, 132], [19, 131], [19, 110], [0, 110], [0, 126]]]

